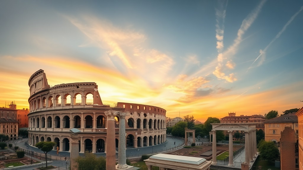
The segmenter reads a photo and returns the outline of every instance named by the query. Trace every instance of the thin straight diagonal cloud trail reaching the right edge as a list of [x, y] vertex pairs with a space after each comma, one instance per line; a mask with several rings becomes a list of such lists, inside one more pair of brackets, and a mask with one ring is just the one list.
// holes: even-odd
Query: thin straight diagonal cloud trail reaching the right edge
[[[261, 57], [261, 59], [259, 60], [258, 62], [258, 66], [262, 65], [263, 62], [265, 61], [265, 57], [266, 57], [266, 51], [268, 49], [268, 47], [274, 42], [276, 41], [277, 38], [279, 38], [281, 36], [281, 34], [286, 30], [287, 26], [295, 19], [295, 17], [303, 10], [303, 6], [301, 6], [301, 8], [299, 9], [299, 11], [297, 11], [288, 21], [287, 23], [284, 25], [284, 27], [282, 28], [281, 31], [278, 32], [278, 34], [275, 36], [274, 39], [272, 39], [270, 41], [270, 43], [263, 49], [263, 50], [260, 50], [260, 55], [254, 60], [254, 62], [252, 62], [252, 64], [250, 65], [250, 67], [248, 67], [247, 70], [251, 69], [252, 68], [252, 65], [258, 60], [258, 58]], [[247, 72], [247, 71], [246, 71]]]

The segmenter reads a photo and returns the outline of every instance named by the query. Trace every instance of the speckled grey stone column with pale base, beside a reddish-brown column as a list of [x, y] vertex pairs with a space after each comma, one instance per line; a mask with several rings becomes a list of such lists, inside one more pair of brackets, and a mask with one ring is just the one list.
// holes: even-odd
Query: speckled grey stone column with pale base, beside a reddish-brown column
[[[118, 114], [119, 122], [119, 153], [118, 153], [118, 165], [117, 168], [127, 168], [126, 164], [126, 142], [125, 142], [125, 116], [126, 113]], [[107, 169], [107, 168], [106, 168]]]

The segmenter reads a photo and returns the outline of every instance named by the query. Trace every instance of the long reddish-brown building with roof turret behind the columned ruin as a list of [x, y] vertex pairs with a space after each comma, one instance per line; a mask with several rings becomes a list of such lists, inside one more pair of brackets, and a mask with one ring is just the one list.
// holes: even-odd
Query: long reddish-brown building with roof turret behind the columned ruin
[[256, 124], [256, 129], [265, 130], [264, 121], [265, 117], [262, 115], [251, 115], [251, 116], [236, 116], [236, 113], [228, 113], [228, 116], [225, 116], [220, 119], [220, 123], [254, 123]]

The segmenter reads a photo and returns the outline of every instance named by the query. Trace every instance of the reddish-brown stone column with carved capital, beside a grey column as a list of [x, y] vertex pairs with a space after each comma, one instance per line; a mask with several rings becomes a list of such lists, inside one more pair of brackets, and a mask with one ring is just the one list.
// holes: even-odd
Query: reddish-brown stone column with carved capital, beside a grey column
[[[115, 116], [117, 111], [108, 110], [104, 112], [107, 116], [107, 136], [106, 136], [106, 170], [116, 169], [116, 147], [115, 147]], [[121, 122], [121, 120], [120, 120]], [[124, 135], [125, 133], [123, 133]], [[124, 140], [119, 140], [119, 143]]]

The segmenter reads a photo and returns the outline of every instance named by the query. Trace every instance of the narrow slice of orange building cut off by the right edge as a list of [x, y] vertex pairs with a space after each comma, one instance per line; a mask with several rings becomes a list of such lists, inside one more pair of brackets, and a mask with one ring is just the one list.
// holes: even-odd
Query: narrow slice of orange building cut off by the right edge
[[299, 123], [299, 170], [303, 170], [303, 107], [296, 113]]

